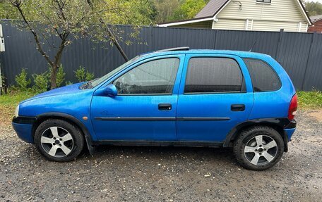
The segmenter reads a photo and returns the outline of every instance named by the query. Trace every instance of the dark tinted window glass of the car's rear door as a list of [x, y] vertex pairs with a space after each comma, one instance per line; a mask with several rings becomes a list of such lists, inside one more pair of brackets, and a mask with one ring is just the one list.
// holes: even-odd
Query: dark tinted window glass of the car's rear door
[[243, 75], [232, 58], [191, 58], [185, 93], [245, 91]]

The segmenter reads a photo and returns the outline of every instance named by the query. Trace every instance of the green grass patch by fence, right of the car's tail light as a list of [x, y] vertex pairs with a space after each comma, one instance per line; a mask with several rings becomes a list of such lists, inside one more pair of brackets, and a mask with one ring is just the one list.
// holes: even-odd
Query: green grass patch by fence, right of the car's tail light
[[322, 108], [322, 91], [297, 91], [300, 109]]

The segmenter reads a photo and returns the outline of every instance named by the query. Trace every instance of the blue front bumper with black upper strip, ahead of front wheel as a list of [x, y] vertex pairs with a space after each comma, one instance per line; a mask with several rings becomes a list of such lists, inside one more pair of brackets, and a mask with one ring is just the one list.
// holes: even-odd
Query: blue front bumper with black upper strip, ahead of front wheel
[[16, 131], [20, 139], [22, 139], [25, 142], [34, 144], [34, 139], [32, 135], [32, 125], [35, 123], [35, 121], [35, 117], [13, 117], [13, 130]]

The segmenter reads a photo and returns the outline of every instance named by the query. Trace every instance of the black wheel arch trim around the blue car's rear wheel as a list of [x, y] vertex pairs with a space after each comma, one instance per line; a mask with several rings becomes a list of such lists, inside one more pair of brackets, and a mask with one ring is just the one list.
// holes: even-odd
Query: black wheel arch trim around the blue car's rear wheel
[[254, 126], [268, 126], [272, 127], [276, 130], [284, 141], [285, 149], [284, 151], [288, 151], [287, 143], [288, 138], [284, 128], [290, 124], [290, 120], [287, 118], [264, 118], [264, 119], [256, 119], [256, 120], [247, 120], [246, 122], [241, 122], [239, 125], [235, 126], [230, 132], [227, 134], [225, 142], [223, 144], [224, 147], [232, 146], [233, 141], [239, 136], [240, 132], [246, 130], [249, 127]]

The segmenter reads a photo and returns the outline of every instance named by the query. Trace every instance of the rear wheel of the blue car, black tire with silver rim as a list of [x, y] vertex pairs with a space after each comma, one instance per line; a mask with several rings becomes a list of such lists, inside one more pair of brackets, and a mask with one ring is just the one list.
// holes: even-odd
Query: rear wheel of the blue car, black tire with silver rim
[[[262, 144], [258, 145], [257, 141], [261, 142], [261, 139]], [[272, 142], [270, 143], [270, 141]], [[274, 147], [268, 149], [270, 146]], [[249, 127], [243, 130], [234, 141], [233, 151], [234, 156], [242, 167], [249, 170], [266, 170], [273, 167], [282, 158], [284, 141], [281, 135], [272, 127]]]

